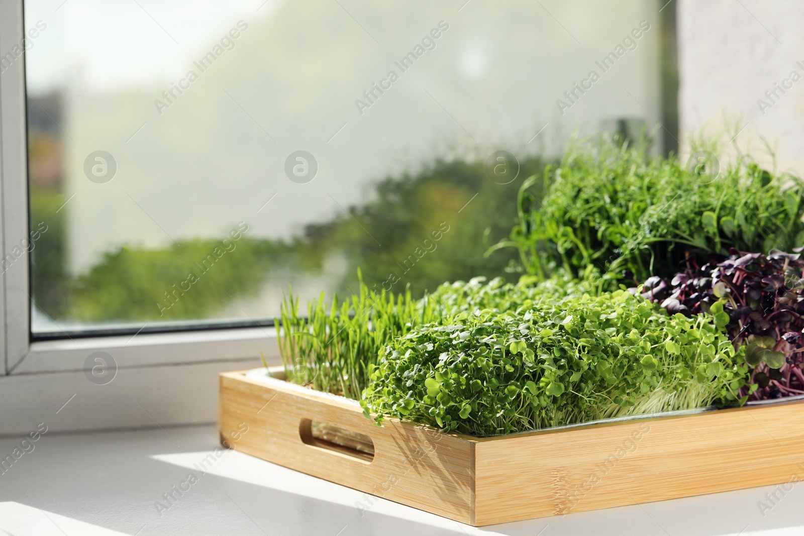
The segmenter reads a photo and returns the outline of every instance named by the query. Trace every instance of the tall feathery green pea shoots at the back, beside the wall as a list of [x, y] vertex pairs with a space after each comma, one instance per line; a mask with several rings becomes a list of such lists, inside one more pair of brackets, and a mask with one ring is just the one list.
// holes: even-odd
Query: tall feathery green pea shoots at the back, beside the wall
[[686, 252], [790, 251], [804, 243], [804, 183], [747, 156], [701, 180], [676, 158], [604, 140], [571, 146], [542, 175], [549, 179], [543, 200], [530, 193], [543, 187], [541, 177], [523, 182], [511, 236], [494, 246], [519, 248], [523, 268], [539, 280], [555, 263], [644, 281], [671, 277]]

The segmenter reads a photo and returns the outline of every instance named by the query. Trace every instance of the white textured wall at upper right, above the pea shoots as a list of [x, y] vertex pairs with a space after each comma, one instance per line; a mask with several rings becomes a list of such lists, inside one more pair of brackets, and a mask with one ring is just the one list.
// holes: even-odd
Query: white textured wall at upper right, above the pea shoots
[[[804, 3], [796, 0], [679, 0], [679, 128], [682, 151], [697, 133], [745, 127], [740, 149], [777, 155], [778, 170], [804, 172]], [[799, 65], [797, 62], [802, 62]], [[765, 91], [802, 77], [770, 100]], [[761, 109], [759, 100], [770, 104]], [[735, 124], [739, 126], [734, 127]], [[769, 162], [769, 158], [765, 158]]]

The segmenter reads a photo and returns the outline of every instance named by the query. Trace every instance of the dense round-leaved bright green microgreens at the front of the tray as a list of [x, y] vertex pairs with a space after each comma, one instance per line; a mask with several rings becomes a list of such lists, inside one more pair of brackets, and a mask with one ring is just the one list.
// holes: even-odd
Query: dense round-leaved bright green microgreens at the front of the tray
[[623, 290], [459, 313], [369, 366], [364, 413], [494, 436], [735, 400], [746, 367], [712, 317]]

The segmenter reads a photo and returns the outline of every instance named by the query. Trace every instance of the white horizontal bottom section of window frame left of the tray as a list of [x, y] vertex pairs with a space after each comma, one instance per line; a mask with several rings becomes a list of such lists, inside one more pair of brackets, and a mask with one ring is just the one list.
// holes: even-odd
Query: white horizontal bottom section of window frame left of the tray
[[[0, 375], [0, 437], [23, 435], [43, 421], [58, 432], [215, 422], [218, 374], [260, 366], [260, 353], [279, 364], [276, 333], [219, 329], [34, 342], [11, 374]], [[108, 383], [88, 372], [99, 351], [113, 359]]]

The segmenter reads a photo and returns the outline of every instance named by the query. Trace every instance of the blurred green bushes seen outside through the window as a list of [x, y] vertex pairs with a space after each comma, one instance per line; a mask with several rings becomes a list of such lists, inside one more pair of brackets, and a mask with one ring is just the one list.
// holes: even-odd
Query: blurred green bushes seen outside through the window
[[[71, 278], [65, 268], [64, 211], [56, 212], [66, 197], [33, 188], [31, 222], [44, 221], [50, 229], [31, 256], [34, 300], [49, 317], [63, 321], [214, 319], [232, 306], [232, 298], [253, 296], [266, 280], [289, 272], [315, 274], [338, 252], [347, 260], [346, 276], [332, 289], [338, 293], [356, 288], [357, 268], [369, 287], [399, 292], [409, 284], [416, 297], [445, 280], [515, 279], [505, 269], [515, 252], [483, 254], [511, 230], [523, 179], [543, 168], [540, 158], [527, 158], [506, 185], [486, 177], [484, 162], [459, 160], [388, 177], [376, 184], [370, 202], [350, 207], [348, 216], [309, 225], [297, 239], [244, 235], [192, 283], [188, 274], [201, 273], [199, 263], [221, 239], [181, 240], [164, 249], [126, 245]], [[434, 231], [445, 228], [433, 239]]]

